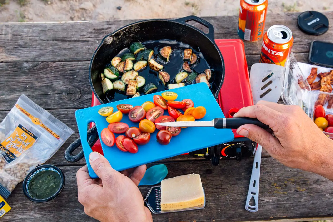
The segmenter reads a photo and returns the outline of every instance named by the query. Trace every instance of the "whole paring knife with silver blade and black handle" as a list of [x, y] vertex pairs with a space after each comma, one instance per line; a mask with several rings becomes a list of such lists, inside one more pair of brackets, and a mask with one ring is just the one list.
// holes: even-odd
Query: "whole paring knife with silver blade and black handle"
[[237, 129], [241, 125], [253, 124], [261, 128], [268, 129], [269, 126], [260, 122], [258, 119], [248, 117], [235, 118], [215, 118], [211, 121], [178, 121], [156, 123], [162, 126], [190, 127], [190, 126], [214, 126], [217, 129]]

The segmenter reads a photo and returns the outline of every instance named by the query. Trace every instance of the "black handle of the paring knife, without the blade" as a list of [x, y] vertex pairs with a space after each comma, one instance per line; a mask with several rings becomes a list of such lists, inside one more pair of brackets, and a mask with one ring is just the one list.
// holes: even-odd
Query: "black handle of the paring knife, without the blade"
[[237, 129], [241, 125], [253, 124], [260, 126], [263, 129], [269, 129], [269, 126], [260, 122], [258, 119], [248, 117], [235, 118], [215, 118], [214, 127], [217, 129]]

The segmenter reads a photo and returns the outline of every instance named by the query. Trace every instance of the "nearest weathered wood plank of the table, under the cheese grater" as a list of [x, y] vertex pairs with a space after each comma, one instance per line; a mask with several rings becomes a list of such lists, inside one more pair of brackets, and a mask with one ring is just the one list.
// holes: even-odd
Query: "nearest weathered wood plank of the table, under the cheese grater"
[[[259, 211], [244, 209], [252, 160], [226, 160], [215, 167], [209, 162], [166, 163], [167, 177], [199, 173], [206, 193], [204, 210], [153, 215], [162, 221], [259, 221], [333, 216], [333, 183], [319, 175], [287, 168], [273, 158], [263, 158], [261, 165]], [[151, 164], [149, 164], [151, 166]], [[77, 201], [75, 173], [80, 166], [61, 167], [66, 184], [53, 201], [32, 204], [23, 195], [21, 184], [7, 199], [12, 210], [7, 221], [94, 221], [84, 214]], [[141, 187], [146, 196], [149, 186]], [[167, 219], [166, 219], [167, 218]], [[5, 219], [5, 220], [6, 220]]]

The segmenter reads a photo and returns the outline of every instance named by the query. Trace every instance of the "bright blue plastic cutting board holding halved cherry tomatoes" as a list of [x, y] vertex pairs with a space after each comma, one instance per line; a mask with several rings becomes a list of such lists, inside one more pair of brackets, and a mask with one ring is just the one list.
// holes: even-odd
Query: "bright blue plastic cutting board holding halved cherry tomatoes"
[[[210, 89], [205, 83], [197, 83], [168, 91], [178, 94], [176, 101], [191, 99], [194, 103], [194, 107], [205, 107], [207, 113], [202, 119], [200, 119], [202, 121], [210, 121], [217, 117], [224, 117], [221, 108], [217, 104], [213, 94], [210, 92]], [[102, 107], [111, 106], [114, 108], [114, 110], [117, 111], [116, 106], [119, 104], [141, 106], [144, 102], [153, 102], [153, 96], [161, 94], [162, 92], [148, 94], [95, 107], [89, 107], [77, 110], [75, 112], [82, 142], [82, 148], [86, 158], [89, 175], [92, 178], [98, 178], [98, 176], [95, 174], [89, 163], [89, 154], [92, 152], [92, 149], [87, 142], [87, 125], [90, 122], [95, 122], [98, 134], [100, 136], [102, 129], [108, 127], [109, 124], [105, 120], [105, 117], [98, 114], [98, 110]], [[168, 115], [167, 110], [164, 111], [164, 115]], [[139, 127], [139, 123], [130, 121], [128, 114], [124, 114], [121, 121], [126, 122], [130, 127]], [[172, 137], [168, 145], [161, 145], [156, 140], [156, 134], [158, 131], [159, 130], [156, 130], [154, 133], [152, 133], [149, 143], [139, 146], [139, 151], [135, 154], [120, 151], [116, 144], [113, 147], [106, 146], [101, 140], [104, 156], [109, 160], [111, 166], [115, 170], [121, 171], [201, 148], [229, 142], [234, 139], [234, 135], [231, 129], [215, 129], [214, 127], [187, 127], [182, 128], [179, 135]], [[115, 134], [116, 137], [118, 135], [121, 134]]]

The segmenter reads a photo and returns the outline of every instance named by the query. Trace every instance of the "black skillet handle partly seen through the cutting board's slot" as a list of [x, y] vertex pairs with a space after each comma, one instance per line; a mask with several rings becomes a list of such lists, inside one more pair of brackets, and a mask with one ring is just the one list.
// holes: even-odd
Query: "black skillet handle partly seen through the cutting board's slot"
[[[90, 147], [92, 147], [99, 138], [96, 125], [88, 130], [87, 136], [88, 136], [88, 144], [90, 145]], [[83, 149], [81, 149], [78, 154], [73, 155], [74, 150], [76, 150], [80, 145], [81, 145], [81, 139], [78, 138], [71, 145], [67, 147], [64, 156], [68, 162], [77, 162], [84, 157]]]

